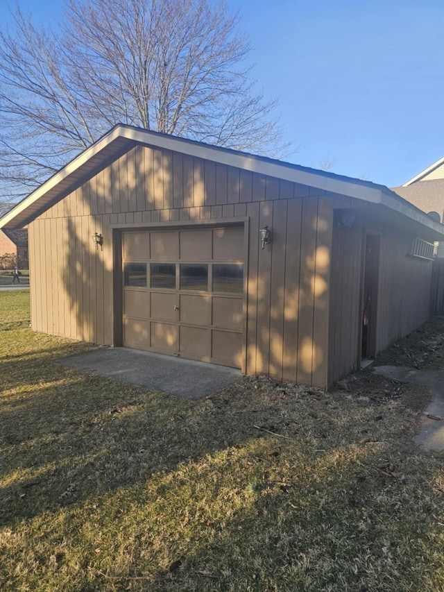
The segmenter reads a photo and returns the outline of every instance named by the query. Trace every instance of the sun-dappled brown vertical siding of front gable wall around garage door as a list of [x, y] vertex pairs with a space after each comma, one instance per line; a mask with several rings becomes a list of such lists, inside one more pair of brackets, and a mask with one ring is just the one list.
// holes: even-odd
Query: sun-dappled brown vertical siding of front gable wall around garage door
[[[325, 387], [332, 239], [325, 192], [148, 146], [135, 146], [29, 225], [33, 329], [113, 345], [112, 226], [225, 218], [248, 218], [242, 370]], [[262, 250], [264, 224], [273, 237]], [[103, 251], [94, 232], [103, 233]]]

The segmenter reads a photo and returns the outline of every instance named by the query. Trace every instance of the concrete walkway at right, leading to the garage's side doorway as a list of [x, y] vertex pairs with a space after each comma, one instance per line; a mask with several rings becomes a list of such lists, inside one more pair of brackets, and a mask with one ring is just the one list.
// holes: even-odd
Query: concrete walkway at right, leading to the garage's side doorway
[[422, 450], [444, 450], [444, 371], [416, 370], [407, 366], [376, 366], [373, 371], [391, 380], [430, 388], [432, 401], [423, 413], [420, 432], [413, 441]]

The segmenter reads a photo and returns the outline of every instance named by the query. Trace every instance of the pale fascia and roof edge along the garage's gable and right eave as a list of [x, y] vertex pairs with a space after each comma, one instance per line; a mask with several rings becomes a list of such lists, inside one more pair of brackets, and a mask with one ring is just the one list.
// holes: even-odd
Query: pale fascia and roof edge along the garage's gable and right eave
[[65, 167], [46, 180], [33, 193], [18, 203], [0, 219], [0, 228], [23, 228], [54, 203], [67, 196], [88, 178], [126, 153], [133, 146], [142, 144], [157, 149], [180, 152], [196, 158], [238, 167], [253, 173], [288, 180], [301, 185], [322, 189], [370, 203], [385, 205], [410, 221], [426, 226], [434, 235], [444, 234], [441, 224], [427, 217], [418, 208], [392, 192], [384, 185], [376, 185], [360, 179], [301, 167], [262, 156], [234, 151], [184, 139], [164, 133], [153, 132], [118, 124], [92, 146], [85, 149]]

